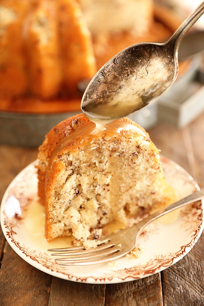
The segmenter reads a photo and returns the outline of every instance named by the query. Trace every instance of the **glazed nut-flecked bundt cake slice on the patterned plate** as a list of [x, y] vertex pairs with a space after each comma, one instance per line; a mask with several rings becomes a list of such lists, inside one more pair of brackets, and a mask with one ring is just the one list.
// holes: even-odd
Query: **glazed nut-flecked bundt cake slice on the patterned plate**
[[57, 124], [38, 154], [38, 191], [46, 207], [46, 238], [73, 235], [87, 248], [110, 222], [169, 204], [159, 150], [128, 118], [102, 126], [83, 114]]

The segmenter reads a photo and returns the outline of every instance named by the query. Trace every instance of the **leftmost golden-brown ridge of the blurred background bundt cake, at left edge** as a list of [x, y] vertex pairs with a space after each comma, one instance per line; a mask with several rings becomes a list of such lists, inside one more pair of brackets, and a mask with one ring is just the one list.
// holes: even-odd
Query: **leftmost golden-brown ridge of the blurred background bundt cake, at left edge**
[[18, 97], [27, 90], [22, 25], [30, 4], [27, 0], [0, 2], [0, 96]]

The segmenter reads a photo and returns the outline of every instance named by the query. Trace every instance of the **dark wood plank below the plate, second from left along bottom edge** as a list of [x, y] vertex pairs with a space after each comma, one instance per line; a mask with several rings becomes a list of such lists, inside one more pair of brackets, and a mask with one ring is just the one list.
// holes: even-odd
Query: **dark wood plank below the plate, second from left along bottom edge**
[[104, 306], [105, 286], [53, 277], [49, 306]]

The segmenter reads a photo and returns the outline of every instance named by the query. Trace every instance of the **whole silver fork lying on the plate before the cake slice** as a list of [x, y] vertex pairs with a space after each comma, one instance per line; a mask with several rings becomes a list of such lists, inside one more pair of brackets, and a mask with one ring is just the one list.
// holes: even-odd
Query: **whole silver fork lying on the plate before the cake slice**
[[58, 252], [51, 254], [52, 256], [66, 256], [65, 258], [55, 259], [58, 264], [62, 266], [91, 265], [118, 259], [135, 248], [137, 238], [147, 224], [170, 211], [183, 207], [194, 201], [201, 200], [202, 198], [204, 198], [204, 188], [167, 206], [165, 209], [156, 211], [130, 228], [117, 230], [111, 235], [102, 238], [98, 246], [95, 248], [85, 249], [82, 245], [70, 248], [53, 248], [48, 251]]

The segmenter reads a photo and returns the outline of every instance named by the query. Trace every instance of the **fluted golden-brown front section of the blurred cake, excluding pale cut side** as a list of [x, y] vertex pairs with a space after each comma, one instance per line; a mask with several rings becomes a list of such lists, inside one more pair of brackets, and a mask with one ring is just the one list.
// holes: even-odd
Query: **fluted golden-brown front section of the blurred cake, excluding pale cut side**
[[75, 0], [0, 2], [0, 96], [76, 94], [96, 72], [91, 34]]

